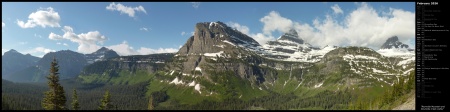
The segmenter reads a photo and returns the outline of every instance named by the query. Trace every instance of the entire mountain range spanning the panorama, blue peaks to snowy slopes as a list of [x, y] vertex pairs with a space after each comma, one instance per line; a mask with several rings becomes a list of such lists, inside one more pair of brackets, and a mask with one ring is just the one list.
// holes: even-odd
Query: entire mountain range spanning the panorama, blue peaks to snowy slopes
[[[91, 54], [63, 50], [39, 59], [11, 50], [2, 56], [2, 76], [42, 82], [51, 59], [57, 58], [62, 79], [112, 85], [148, 82], [148, 94], [166, 91], [170, 101], [191, 104], [273, 93], [309, 97], [344, 89], [384, 91], [415, 69], [414, 50], [396, 36], [375, 51], [313, 47], [294, 29], [263, 45], [220, 21], [197, 23], [194, 30], [176, 53], [119, 56], [103, 47]], [[12, 58], [19, 56], [23, 58]]]

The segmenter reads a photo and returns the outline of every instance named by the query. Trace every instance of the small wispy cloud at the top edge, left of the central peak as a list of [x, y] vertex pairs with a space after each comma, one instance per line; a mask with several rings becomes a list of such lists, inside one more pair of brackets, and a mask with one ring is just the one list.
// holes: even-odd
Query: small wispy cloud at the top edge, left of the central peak
[[134, 17], [134, 13], [135, 12], [144, 12], [145, 14], [147, 14], [147, 11], [145, 11], [144, 7], [142, 7], [141, 5], [137, 6], [137, 7], [129, 7], [129, 6], [124, 6], [120, 3], [111, 3], [109, 4], [109, 6], [106, 6], [107, 10], [110, 11], [119, 11], [120, 14], [125, 13], [128, 14], [128, 16], [130, 17]]

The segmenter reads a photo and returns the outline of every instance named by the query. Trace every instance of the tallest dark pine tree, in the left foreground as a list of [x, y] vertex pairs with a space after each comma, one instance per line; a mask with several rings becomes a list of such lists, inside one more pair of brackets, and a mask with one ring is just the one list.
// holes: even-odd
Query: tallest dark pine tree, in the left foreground
[[47, 76], [49, 91], [44, 93], [42, 107], [46, 110], [66, 109], [66, 96], [63, 87], [59, 84], [59, 66], [55, 58], [50, 64], [50, 74]]

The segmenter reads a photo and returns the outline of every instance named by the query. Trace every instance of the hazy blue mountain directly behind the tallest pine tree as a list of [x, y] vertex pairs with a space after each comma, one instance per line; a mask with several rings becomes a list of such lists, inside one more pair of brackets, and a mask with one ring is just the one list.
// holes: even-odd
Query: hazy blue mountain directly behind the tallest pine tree
[[16, 82], [42, 82], [47, 79], [50, 69], [50, 63], [56, 58], [59, 66], [60, 79], [77, 77], [83, 67], [87, 65], [87, 61], [83, 54], [70, 50], [62, 50], [50, 52], [44, 55], [37, 64], [25, 67], [21, 71], [17, 71], [11, 75], [11, 81]]

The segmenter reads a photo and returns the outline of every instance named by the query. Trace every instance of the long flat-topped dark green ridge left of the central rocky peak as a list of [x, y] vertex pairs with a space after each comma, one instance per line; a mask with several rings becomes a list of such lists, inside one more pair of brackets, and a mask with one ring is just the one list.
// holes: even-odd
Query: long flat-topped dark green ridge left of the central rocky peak
[[161, 53], [96, 61], [84, 67], [78, 78], [83, 83], [134, 84], [148, 81], [151, 78], [149, 74], [164, 70], [164, 64], [173, 56], [173, 53]]

